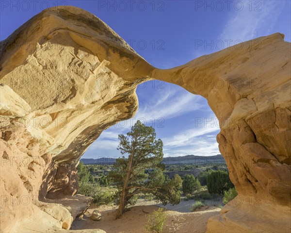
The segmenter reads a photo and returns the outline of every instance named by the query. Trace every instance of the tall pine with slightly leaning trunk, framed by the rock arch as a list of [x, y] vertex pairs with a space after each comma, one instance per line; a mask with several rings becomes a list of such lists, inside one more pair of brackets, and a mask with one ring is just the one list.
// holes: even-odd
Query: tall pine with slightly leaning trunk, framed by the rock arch
[[[127, 135], [119, 134], [118, 138], [117, 150], [128, 158], [116, 159], [108, 176], [118, 188], [116, 218], [123, 215], [133, 197], [140, 193], [152, 193], [163, 204], [178, 204], [182, 180], [179, 176], [171, 180], [163, 175], [162, 140], [156, 140], [155, 129], [138, 120]], [[152, 169], [149, 174], [147, 168]]]

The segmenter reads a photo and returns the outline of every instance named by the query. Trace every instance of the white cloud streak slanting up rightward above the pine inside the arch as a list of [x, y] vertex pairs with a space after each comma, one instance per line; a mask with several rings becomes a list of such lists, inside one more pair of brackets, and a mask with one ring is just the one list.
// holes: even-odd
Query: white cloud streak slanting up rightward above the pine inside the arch
[[143, 123], [151, 124], [154, 119], [170, 119], [177, 116], [182, 116], [186, 113], [195, 111], [203, 106], [199, 103], [200, 96], [193, 95], [180, 87], [166, 86], [165, 92], [157, 92], [149, 96], [147, 101], [140, 104], [137, 114], [126, 121], [116, 123], [109, 129], [103, 131], [97, 141], [95, 141], [87, 153], [92, 151], [102, 151], [107, 148], [111, 150], [110, 153], [116, 154], [118, 146], [118, 134], [125, 134], [129, 132], [130, 127], [141, 119]]

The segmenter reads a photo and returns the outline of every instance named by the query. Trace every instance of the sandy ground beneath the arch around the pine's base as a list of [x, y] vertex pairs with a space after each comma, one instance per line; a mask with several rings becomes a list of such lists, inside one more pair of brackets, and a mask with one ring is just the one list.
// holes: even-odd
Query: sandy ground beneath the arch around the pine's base
[[[165, 221], [163, 233], [205, 233], [208, 218], [217, 215], [220, 208], [216, 206], [204, 206], [201, 209], [189, 213], [189, 207], [194, 200], [181, 201], [178, 205], [159, 206], [165, 208], [168, 215]], [[138, 203], [141, 204], [141, 203]], [[147, 216], [159, 208], [152, 201], [146, 201], [132, 207], [120, 219], [115, 220], [115, 206], [96, 206], [92, 204], [87, 212], [77, 218], [72, 224], [72, 230], [101, 229], [106, 233], [146, 233], [144, 225]], [[101, 212], [101, 219], [91, 220], [94, 210]], [[188, 212], [188, 213], [187, 213]]]

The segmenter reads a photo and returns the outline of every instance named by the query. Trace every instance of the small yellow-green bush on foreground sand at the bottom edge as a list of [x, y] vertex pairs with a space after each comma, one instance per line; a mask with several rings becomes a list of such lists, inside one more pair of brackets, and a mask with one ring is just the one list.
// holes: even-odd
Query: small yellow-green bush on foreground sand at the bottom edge
[[145, 225], [146, 230], [150, 233], [162, 233], [163, 224], [166, 219], [167, 214], [163, 208], [154, 210], [153, 213], [147, 217], [147, 223]]

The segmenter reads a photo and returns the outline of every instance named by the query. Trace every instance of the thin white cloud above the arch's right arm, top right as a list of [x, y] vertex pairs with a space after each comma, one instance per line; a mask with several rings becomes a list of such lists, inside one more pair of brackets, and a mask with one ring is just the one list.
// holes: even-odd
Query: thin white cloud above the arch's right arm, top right
[[286, 5], [282, 0], [242, 0], [230, 4], [233, 10], [228, 13], [221, 33], [216, 38], [201, 40], [194, 58], [275, 33], [274, 26]]

